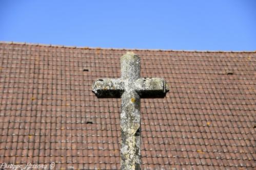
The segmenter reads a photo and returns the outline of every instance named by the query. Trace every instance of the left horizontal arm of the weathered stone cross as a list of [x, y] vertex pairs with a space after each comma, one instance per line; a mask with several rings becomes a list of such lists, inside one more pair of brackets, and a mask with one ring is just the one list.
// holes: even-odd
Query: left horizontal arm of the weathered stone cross
[[92, 92], [97, 98], [121, 98], [124, 82], [121, 79], [97, 79], [92, 84]]

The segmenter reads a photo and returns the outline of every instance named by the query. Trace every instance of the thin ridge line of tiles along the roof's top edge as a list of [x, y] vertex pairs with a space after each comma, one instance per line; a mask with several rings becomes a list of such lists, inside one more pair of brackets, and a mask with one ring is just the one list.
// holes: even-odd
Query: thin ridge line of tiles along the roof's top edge
[[104, 48], [104, 47], [88, 47], [88, 46], [71, 46], [71, 45], [56, 45], [44, 43], [29, 43], [29, 42], [15, 42], [15, 41], [0, 41], [2, 44], [20, 44], [20, 45], [35, 45], [35, 46], [49, 46], [49, 47], [63, 47], [63, 48], [78, 48], [91, 50], [131, 50], [131, 51], [162, 51], [162, 52], [188, 52], [188, 53], [256, 53], [255, 51], [204, 51], [204, 50], [161, 50], [161, 49], [140, 49], [140, 48]]

